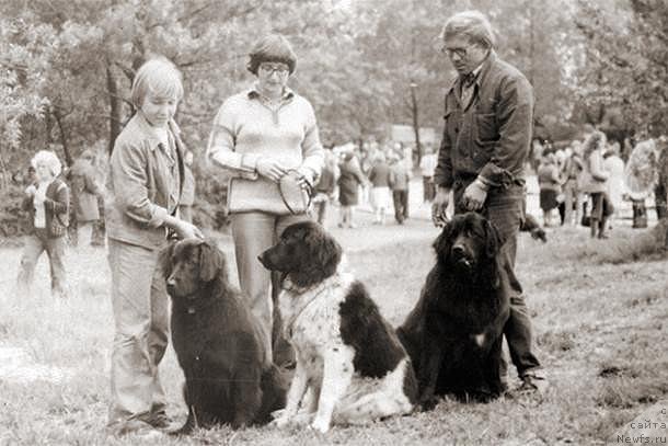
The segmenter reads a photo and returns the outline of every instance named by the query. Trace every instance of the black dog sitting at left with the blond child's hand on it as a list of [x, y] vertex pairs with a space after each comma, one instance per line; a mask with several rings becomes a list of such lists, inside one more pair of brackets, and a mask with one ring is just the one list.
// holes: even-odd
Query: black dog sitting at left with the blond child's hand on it
[[224, 254], [211, 242], [186, 239], [163, 252], [163, 268], [188, 408], [174, 434], [269, 422], [285, 405], [287, 382], [268, 359], [258, 320], [228, 282]]

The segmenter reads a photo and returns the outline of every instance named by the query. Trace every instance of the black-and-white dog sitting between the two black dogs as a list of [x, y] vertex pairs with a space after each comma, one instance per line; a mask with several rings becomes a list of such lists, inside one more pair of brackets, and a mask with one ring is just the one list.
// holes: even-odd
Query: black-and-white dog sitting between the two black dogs
[[[312, 221], [289, 226], [260, 255], [266, 268], [281, 273], [279, 306], [297, 356], [286, 409], [274, 421], [279, 427], [310, 423], [324, 433], [332, 423], [406, 414], [416, 402], [405, 350], [341, 260], [338, 242]], [[308, 407], [299, 412], [302, 399]]]

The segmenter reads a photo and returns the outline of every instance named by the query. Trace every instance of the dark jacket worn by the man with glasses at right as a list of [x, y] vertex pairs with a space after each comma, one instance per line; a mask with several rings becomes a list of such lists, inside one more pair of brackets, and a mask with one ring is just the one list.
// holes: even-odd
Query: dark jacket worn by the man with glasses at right
[[460, 101], [461, 78], [446, 94], [446, 122], [434, 181], [446, 187], [476, 176], [492, 187], [521, 184], [533, 125], [531, 84], [492, 50], [474, 89], [465, 108]]

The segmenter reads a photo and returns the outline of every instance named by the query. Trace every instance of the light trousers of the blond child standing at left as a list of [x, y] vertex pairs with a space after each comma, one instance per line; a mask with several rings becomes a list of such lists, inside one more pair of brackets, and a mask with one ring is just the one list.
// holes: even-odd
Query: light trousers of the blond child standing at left
[[146, 421], [166, 405], [158, 365], [168, 346], [170, 321], [158, 256], [157, 250], [108, 240], [116, 329], [108, 425], [115, 428], [130, 420]]

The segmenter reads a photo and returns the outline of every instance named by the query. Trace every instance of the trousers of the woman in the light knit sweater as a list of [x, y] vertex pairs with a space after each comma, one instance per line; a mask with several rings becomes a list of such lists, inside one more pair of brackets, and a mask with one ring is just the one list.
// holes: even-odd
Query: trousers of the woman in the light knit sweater
[[265, 346], [272, 359], [274, 359], [272, 355], [272, 333], [274, 333], [272, 273], [260, 263], [257, 256], [274, 245], [288, 226], [309, 219], [307, 214], [281, 216], [253, 211], [231, 215], [239, 286], [253, 315], [262, 322]]

